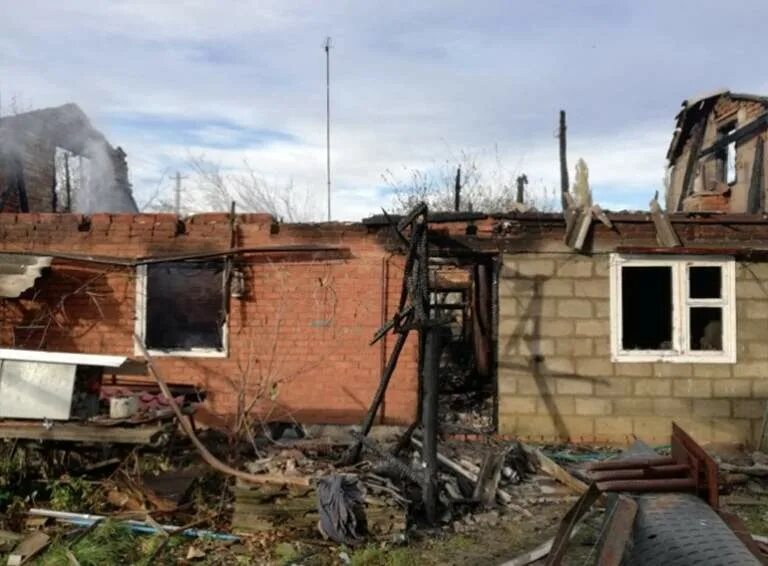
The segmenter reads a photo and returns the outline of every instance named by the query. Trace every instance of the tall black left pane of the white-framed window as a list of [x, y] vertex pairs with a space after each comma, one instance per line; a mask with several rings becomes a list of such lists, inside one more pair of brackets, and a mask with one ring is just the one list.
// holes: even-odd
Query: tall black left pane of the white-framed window
[[621, 269], [624, 350], [672, 349], [672, 268]]

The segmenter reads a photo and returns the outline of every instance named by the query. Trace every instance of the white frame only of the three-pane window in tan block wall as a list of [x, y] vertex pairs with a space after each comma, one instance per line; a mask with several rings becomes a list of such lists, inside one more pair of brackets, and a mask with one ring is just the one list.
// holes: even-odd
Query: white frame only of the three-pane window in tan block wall
[[[736, 267], [727, 256], [643, 256], [611, 254], [611, 359], [614, 362], [736, 363]], [[672, 269], [672, 349], [622, 349], [622, 267], [670, 267]], [[689, 267], [719, 267], [722, 285], [719, 299], [689, 298]], [[719, 307], [723, 311], [722, 351], [690, 349], [690, 308]]]

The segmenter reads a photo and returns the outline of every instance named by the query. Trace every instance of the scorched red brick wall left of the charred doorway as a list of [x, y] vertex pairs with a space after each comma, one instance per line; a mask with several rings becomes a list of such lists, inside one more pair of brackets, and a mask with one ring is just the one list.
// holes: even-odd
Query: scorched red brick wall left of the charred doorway
[[[223, 214], [183, 222], [175, 215], [0, 214], [2, 251], [132, 259], [225, 250], [229, 244]], [[360, 225], [278, 226], [266, 215], [238, 216], [237, 246], [282, 244], [343, 246], [349, 254], [245, 257], [247, 291], [231, 301], [227, 357], [160, 357], [158, 365], [169, 381], [203, 386], [210, 408], [220, 414], [236, 412], [245, 382], [246, 403], [265, 399], [257, 408], [270, 418], [358, 422], [378, 385], [382, 354], [393, 344], [385, 341], [385, 352], [380, 344], [368, 345], [396, 307], [402, 258], [392, 257]], [[56, 260], [22, 299], [2, 300], [0, 339], [32, 349], [136, 357], [134, 317], [133, 268]], [[409, 424], [417, 390], [412, 340], [390, 384], [383, 420]]]

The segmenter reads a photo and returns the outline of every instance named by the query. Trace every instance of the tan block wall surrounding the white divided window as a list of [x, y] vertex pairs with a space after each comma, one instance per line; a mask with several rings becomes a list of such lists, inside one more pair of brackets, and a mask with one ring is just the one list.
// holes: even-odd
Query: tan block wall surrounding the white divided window
[[509, 254], [499, 283], [499, 427], [538, 440], [753, 443], [768, 399], [768, 264], [737, 263], [735, 364], [612, 363], [609, 256]]

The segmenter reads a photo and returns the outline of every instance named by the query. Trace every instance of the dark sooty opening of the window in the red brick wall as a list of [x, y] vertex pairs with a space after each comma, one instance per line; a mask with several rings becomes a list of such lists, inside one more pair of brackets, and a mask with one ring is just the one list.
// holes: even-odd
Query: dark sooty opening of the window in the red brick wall
[[223, 272], [222, 261], [148, 265], [147, 346], [223, 350]]

